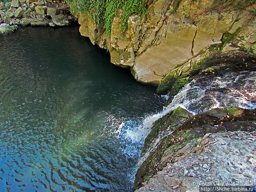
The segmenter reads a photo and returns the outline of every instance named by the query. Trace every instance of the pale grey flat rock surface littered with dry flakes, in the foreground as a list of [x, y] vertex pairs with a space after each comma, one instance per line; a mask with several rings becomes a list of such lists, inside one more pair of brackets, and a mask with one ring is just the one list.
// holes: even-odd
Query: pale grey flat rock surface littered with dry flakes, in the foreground
[[[256, 122], [255, 122], [256, 123]], [[192, 140], [191, 142], [197, 142]], [[199, 186], [253, 186], [256, 132], [206, 134], [183, 159], [168, 164], [138, 191], [199, 191]]]

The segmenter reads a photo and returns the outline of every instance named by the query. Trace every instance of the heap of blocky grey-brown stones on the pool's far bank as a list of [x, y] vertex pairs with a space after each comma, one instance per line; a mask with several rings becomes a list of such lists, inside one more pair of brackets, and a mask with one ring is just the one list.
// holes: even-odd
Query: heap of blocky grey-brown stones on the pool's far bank
[[68, 26], [78, 22], [62, 0], [13, 0], [0, 2], [0, 34], [22, 26]]

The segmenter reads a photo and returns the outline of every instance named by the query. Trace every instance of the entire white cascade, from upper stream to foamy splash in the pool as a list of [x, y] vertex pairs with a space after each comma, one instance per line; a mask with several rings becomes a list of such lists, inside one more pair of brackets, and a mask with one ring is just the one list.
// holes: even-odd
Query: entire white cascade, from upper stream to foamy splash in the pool
[[[254, 71], [229, 72], [221, 78], [202, 76], [194, 79], [174, 96], [172, 102], [164, 107], [162, 112], [147, 116], [140, 124], [129, 121], [120, 125], [118, 136], [127, 141], [127, 149], [124, 152], [130, 154], [132, 151], [132, 155], [139, 153], [153, 123], [178, 107], [194, 115], [214, 108], [232, 106], [255, 109], [255, 90], [256, 72]], [[139, 161], [139, 164], [142, 161]]]

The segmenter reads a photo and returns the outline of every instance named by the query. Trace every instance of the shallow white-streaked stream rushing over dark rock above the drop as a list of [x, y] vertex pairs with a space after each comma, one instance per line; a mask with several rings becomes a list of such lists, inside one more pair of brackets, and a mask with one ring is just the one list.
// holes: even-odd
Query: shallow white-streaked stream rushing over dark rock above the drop
[[256, 108], [256, 72], [228, 72], [222, 77], [201, 76], [185, 85], [163, 111], [182, 107], [193, 114], [225, 107]]

